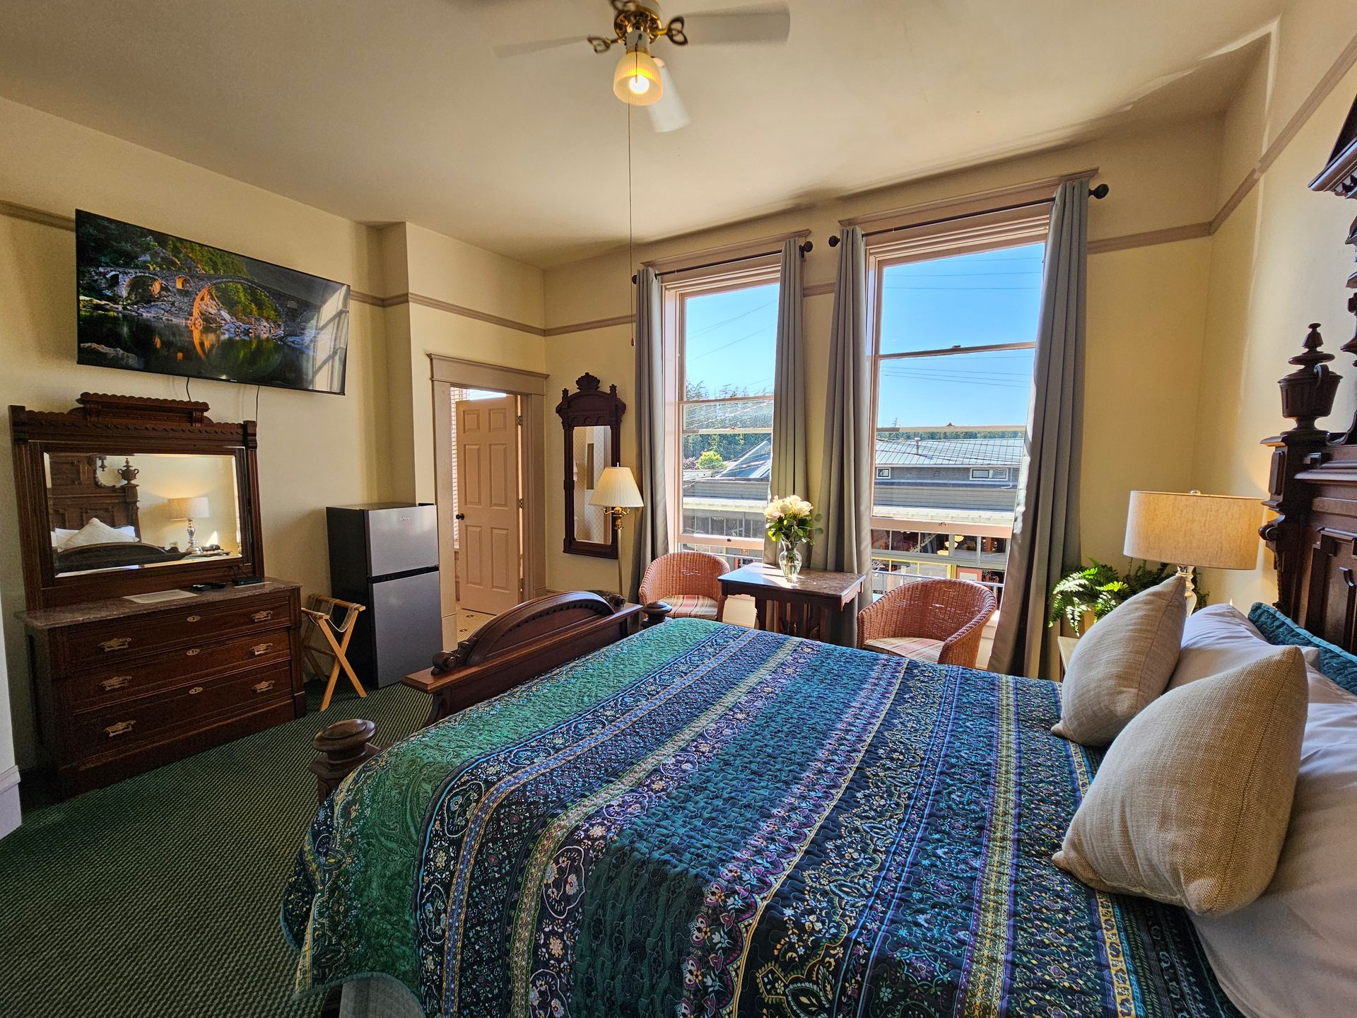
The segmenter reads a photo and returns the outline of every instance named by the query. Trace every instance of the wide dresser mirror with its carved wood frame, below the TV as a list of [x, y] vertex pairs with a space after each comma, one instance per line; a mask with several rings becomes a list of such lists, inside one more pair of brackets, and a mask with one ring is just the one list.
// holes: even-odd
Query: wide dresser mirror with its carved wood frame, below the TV
[[11, 407], [30, 608], [262, 576], [255, 425], [84, 394]]

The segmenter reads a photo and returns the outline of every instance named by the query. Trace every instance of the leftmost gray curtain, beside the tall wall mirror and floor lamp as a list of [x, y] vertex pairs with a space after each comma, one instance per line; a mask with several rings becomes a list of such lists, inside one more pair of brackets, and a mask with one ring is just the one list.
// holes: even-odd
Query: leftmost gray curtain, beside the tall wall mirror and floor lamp
[[669, 551], [669, 519], [665, 506], [665, 383], [660, 327], [664, 303], [654, 269], [636, 273], [636, 390], [632, 406], [636, 422], [636, 485], [645, 501], [635, 520], [631, 592], [635, 600], [646, 566]]

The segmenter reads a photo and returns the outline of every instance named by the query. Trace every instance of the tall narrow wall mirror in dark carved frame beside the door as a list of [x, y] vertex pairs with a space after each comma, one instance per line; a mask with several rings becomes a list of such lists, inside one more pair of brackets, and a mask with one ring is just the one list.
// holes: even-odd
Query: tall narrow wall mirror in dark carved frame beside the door
[[562, 390], [556, 413], [566, 433], [565, 489], [566, 542], [571, 555], [617, 558], [617, 532], [607, 506], [590, 497], [605, 467], [616, 467], [617, 437], [627, 404], [617, 399], [617, 387], [601, 390], [593, 375], [575, 380], [577, 391]]

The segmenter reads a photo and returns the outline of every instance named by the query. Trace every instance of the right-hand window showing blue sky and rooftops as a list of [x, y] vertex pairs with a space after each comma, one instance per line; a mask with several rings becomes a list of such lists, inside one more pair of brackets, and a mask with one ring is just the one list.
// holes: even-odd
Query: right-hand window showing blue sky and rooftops
[[985, 247], [875, 248], [873, 590], [917, 577], [1001, 596], [1041, 307], [1045, 220]]

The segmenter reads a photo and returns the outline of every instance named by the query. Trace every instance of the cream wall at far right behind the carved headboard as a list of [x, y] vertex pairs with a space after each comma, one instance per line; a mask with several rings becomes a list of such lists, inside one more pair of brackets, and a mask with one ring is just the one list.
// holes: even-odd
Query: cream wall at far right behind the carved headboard
[[[1303, 62], [1301, 56], [1282, 60], [1272, 98], [1246, 96], [1227, 125], [1240, 138], [1235, 145], [1257, 147], [1255, 159], [1357, 29], [1357, 19], [1350, 18], [1354, 23], [1346, 37], [1337, 33], [1333, 15], [1329, 7], [1297, 4], [1284, 16], [1281, 52], [1303, 54]], [[1357, 69], [1319, 105], [1212, 239], [1206, 369], [1197, 399], [1193, 464], [1204, 491], [1259, 498], [1267, 491], [1269, 452], [1258, 442], [1289, 426], [1281, 417], [1277, 379], [1291, 371], [1286, 358], [1300, 350], [1311, 322], [1323, 323], [1329, 352], [1338, 354], [1335, 366], [1346, 376], [1327, 425], [1342, 430], [1352, 421], [1357, 379], [1338, 346], [1353, 331], [1343, 288], [1353, 251], [1343, 240], [1357, 205], [1316, 194], [1307, 185], [1329, 160], [1354, 94]], [[1267, 552], [1254, 571], [1215, 571], [1205, 582], [1213, 600], [1232, 600], [1244, 609], [1277, 596]]]

